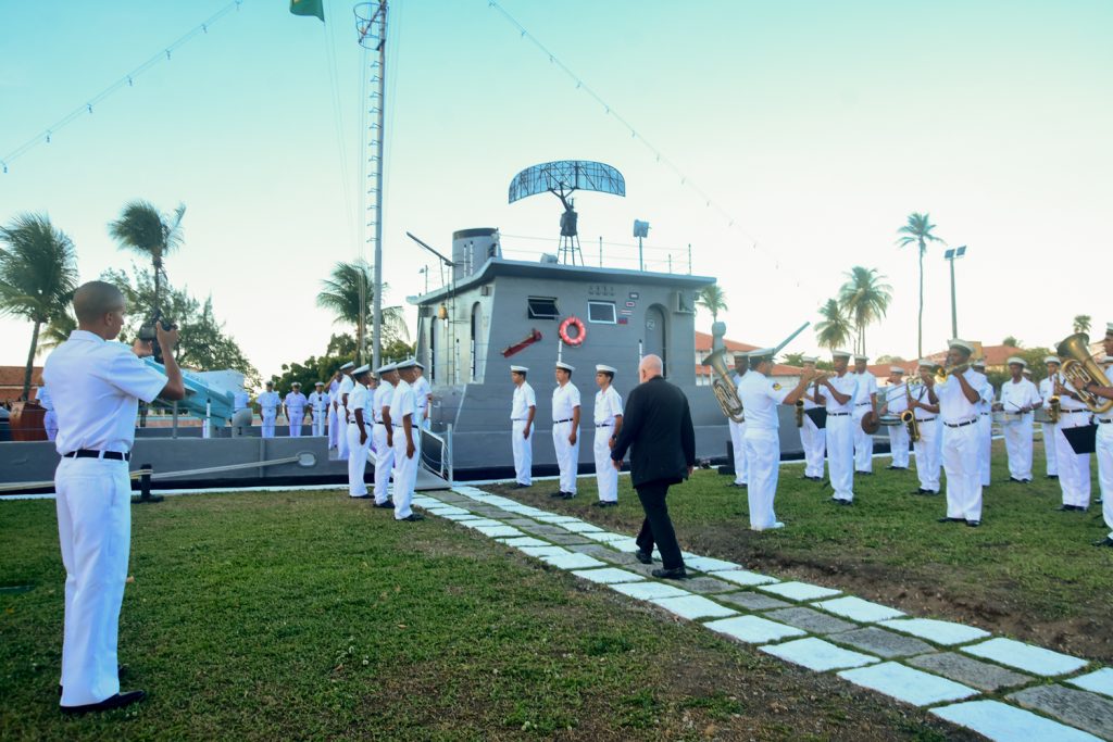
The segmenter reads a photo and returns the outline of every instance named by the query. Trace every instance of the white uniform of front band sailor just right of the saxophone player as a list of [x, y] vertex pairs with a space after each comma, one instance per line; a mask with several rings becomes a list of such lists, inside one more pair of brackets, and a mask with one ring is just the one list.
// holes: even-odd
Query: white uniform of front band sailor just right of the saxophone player
[[[982, 376], [973, 369], [962, 372], [974, 390], [982, 387]], [[984, 376], [982, 378], [985, 378]], [[943, 418], [943, 471], [947, 474], [947, 517], [982, 521], [982, 468], [978, 461], [981, 433], [977, 404], [963, 394], [957, 375], [935, 385]]]

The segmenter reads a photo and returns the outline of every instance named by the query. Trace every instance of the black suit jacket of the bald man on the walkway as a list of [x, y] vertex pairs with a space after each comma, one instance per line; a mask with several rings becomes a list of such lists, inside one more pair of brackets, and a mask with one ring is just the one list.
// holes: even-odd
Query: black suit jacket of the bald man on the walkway
[[611, 458], [622, 461], [627, 448], [634, 487], [684, 479], [688, 467], [696, 465], [696, 431], [684, 393], [660, 376], [634, 387]]

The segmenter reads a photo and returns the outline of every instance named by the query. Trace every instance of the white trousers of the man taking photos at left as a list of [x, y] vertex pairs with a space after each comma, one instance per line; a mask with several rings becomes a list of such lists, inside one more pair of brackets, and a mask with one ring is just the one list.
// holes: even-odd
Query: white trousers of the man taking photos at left
[[55, 491], [66, 567], [61, 704], [99, 703], [120, 692], [116, 647], [131, 545], [128, 464], [63, 458]]

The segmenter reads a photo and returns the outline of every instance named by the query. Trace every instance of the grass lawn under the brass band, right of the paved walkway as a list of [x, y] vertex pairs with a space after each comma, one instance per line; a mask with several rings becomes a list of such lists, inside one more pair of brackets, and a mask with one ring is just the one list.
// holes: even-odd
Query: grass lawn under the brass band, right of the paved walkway
[[[749, 531], [746, 492], [713, 471], [673, 487], [669, 509], [688, 551], [1113, 662], [1113, 550], [1092, 545], [1109, 533], [1101, 506], [1056, 512], [1061, 491], [1044, 477], [1038, 442], [1034, 458], [1035, 481], [1009, 483], [1003, 443], [994, 442], [995, 484], [984, 494], [981, 528], [936, 523], [946, 514], [945, 496], [910, 495], [915, 472], [887, 471], [887, 457], [874, 459], [873, 476], [855, 478], [854, 507], [833, 506], [830, 487], [800, 478], [802, 464], [784, 466], [776, 511], [788, 527], [780, 531]], [[613, 508], [590, 507], [598, 498], [593, 477], [580, 479], [573, 501], [549, 498], [554, 488], [542, 482], [495, 489], [613, 530], [636, 532], [641, 524], [628, 477], [619, 481]]]

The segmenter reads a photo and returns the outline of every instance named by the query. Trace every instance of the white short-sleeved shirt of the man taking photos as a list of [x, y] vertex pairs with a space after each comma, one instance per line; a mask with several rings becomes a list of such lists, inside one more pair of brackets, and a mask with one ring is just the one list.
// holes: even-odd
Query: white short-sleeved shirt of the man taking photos
[[55, 348], [42, 378], [58, 415], [59, 454], [131, 451], [139, 399], [152, 402], [166, 386], [166, 376], [126, 345], [82, 329]]

